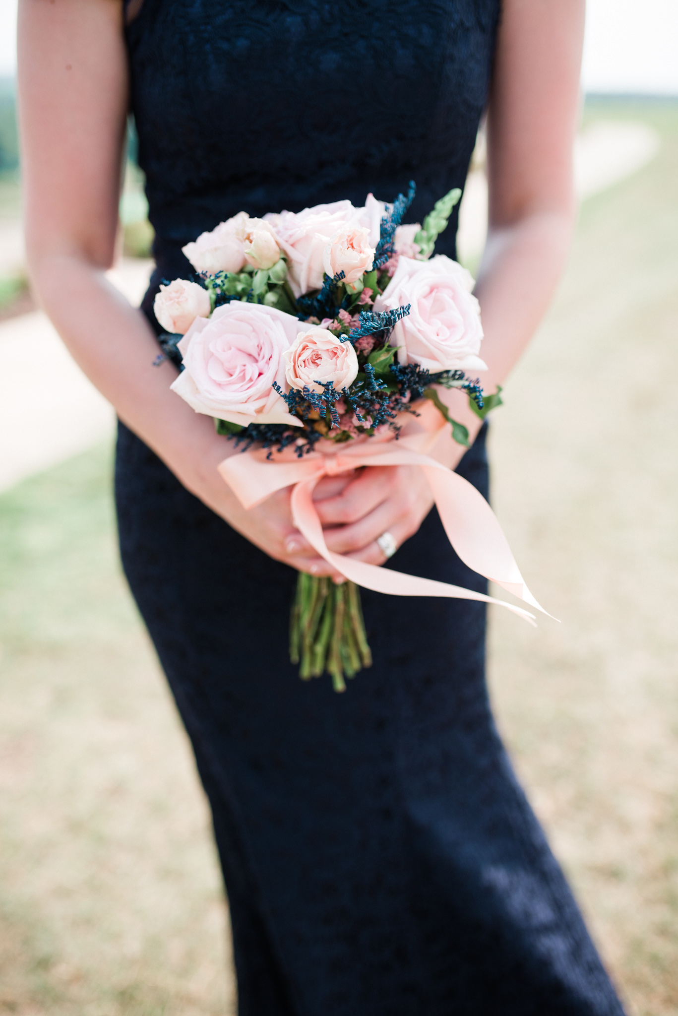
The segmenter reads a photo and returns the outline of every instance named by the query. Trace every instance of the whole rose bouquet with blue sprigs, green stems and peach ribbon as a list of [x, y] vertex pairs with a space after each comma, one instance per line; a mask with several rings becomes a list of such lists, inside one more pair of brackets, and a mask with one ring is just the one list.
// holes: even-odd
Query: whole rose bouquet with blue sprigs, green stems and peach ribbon
[[[371, 663], [358, 586], [395, 595], [460, 596], [521, 608], [459, 586], [331, 553], [313, 507], [323, 475], [363, 465], [417, 464], [450, 543], [474, 570], [537, 607], [485, 499], [428, 452], [441, 429], [468, 446], [439, 388], [465, 391], [484, 417], [501, 401], [476, 373], [483, 329], [471, 274], [434, 254], [460, 191], [422, 225], [404, 225], [415, 186], [392, 204], [367, 196], [252, 218], [241, 211], [183, 251], [190, 279], [161, 285], [155, 313], [172, 385], [244, 452], [220, 471], [245, 507], [293, 486], [297, 528], [348, 580], [300, 572], [290, 654], [304, 679], [335, 690]], [[161, 357], [162, 359], [162, 357]], [[395, 550], [380, 537], [384, 556]]]

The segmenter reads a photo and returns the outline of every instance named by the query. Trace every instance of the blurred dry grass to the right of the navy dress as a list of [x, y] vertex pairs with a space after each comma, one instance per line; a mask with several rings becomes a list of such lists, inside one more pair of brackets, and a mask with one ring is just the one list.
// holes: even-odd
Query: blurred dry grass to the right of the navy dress
[[494, 502], [556, 617], [492, 618], [500, 724], [636, 1016], [678, 1010], [678, 104], [659, 156], [582, 208], [493, 426]]

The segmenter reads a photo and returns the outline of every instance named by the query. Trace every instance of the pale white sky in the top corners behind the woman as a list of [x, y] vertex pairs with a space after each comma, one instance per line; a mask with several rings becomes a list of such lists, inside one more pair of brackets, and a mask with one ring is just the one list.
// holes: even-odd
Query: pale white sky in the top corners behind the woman
[[[16, 0], [0, 0], [0, 76], [16, 66]], [[678, 0], [589, 0], [585, 91], [678, 96]]]

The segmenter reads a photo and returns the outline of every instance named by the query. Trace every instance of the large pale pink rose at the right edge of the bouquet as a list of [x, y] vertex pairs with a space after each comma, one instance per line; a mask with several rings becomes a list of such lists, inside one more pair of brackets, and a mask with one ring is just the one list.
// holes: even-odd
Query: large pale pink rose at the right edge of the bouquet
[[487, 370], [478, 356], [483, 326], [473, 284], [471, 273], [444, 254], [430, 261], [399, 257], [395, 274], [374, 303], [375, 311], [411, 305], [391, 336], [398, 363], [420, 364], [431, 373]]

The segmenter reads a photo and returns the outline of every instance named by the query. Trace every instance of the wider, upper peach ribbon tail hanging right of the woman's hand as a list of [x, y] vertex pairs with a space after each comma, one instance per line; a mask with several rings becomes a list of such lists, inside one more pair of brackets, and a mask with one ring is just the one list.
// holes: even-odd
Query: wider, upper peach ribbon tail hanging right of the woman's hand
[[444, 466], [422, 464], [422, 468], [447, 538], [461, 561], [502, 589], [552, 617], [526, 585], [497, 516], [480, 491]]

